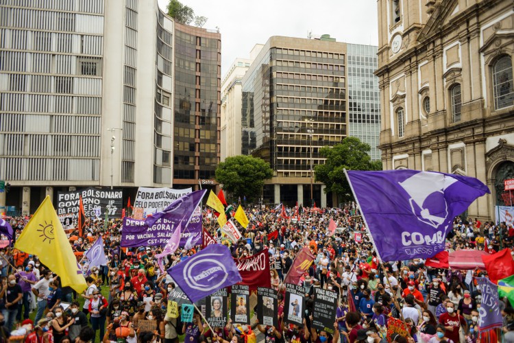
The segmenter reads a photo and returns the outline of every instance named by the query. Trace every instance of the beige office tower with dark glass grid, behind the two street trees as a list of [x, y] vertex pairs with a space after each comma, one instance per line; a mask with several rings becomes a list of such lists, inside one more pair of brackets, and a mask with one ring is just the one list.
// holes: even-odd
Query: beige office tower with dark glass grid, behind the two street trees
[[346, 55], [346, 44], [328, 35], [273, 36], [245, 74], [243, 151], [274, 171], [265, 202], [326, 206], [325, 186], [313, 182], [313, 167], [324, 162], [321, 147], [347, 136]]

